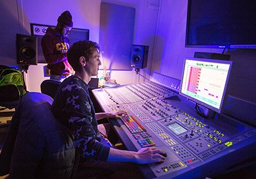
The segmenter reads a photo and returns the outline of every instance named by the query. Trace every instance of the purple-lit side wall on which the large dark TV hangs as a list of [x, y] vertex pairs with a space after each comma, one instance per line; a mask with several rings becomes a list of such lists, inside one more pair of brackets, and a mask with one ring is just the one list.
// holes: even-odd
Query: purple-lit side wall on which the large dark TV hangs
[[[163, 0], [159, 10], [157, 25], [156, 53], [152, 71], [181, 79], [185, 57], [193, 57], [194, 52], [221, 53], [223, 49], [186, 48], [186, 16], [188, 0]], [[225, 52], [233, 61], [228, 82], [229, 95], [256, 102], [256, 50], [236, 49]]]

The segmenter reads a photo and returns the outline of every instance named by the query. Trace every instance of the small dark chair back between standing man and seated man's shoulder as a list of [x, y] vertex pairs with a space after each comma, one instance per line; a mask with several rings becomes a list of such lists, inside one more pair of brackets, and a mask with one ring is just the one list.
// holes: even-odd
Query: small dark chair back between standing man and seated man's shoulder
[[61, 84], [60, 81], [46, 79], [40, 85], [41, 92], [44, 93], [45, 95], [48, 95], [48, 96], [54, 98], [60, 84]]

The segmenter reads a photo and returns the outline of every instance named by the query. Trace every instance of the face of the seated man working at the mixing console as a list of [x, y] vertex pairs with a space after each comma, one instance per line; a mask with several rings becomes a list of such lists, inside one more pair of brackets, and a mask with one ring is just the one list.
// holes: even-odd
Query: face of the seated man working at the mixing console
[[92, 57], [86, 61], [86, 71], [90, 75], [90, 77], [95, 76], [98, 74], [99, 66], [101, 65], [100, 62], [100, 53], [98, 50], [93, 52]]

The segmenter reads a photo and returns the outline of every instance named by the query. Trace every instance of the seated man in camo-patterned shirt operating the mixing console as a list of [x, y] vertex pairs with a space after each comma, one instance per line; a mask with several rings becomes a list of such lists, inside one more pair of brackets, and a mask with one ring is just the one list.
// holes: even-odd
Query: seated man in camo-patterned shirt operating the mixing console
[[[86, 170], [86, 176], [90, 176], [93, 171], [95, 172], [93, 175], [100, 175], [105, 169], [115, 172], [120, 171], [120, 168], [127, 170], [129, 163], [116, 169], [115, 166], [120, 165], [120, 162], [137, 164], [163, 162], [165, 153], [159, 148], [141, 148], [138, 152], [117, 150], [102, 143], [97, 136], [97, 120], [127, 114], [124, 111], [95, 113], [88, 93], [88, 82], [98, 73], [101, 65], [99, 58], [100, 48], [97, 43], [92, 41], [74, 43], [68, 50], [68, 62], [76, 73], [61, 83], [52, 104], [54, 116], [70, 128], [74, 135], [74, 146], [83, 162], [81, 165], [90, 168]], [[129, 175], [132, 173], [129, 170]]]

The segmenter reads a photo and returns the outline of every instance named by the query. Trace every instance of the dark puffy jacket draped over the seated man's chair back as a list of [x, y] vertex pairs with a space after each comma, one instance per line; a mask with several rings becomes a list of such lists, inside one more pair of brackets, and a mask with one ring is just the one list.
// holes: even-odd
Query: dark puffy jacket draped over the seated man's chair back
[[22, 97], [0, 155], [0, 173], [10, 171], [11, 178], [73, 175], [73, 136], [54, 117], [51, 104], [52, 98], [42, 93], [28, 92]]

